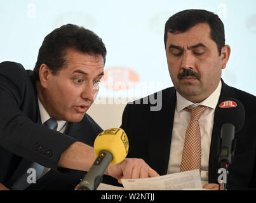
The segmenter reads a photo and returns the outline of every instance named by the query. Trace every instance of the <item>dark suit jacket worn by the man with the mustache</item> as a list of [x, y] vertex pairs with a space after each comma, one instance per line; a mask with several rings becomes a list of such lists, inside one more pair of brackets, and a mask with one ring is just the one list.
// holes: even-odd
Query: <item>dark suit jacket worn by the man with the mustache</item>
[[[142, 158], [159, 174], [167, 173], [172, 141], [173, 119], [176, 105], [175, 88], [161, 91], [162, 108], [151, 111], [149, 104], [128, 103], [123, 112], [123, 128], [128, 136], [130, 149], [128, 157]], [[154, 94], [157, 98], [156, 93]], [[236, 98], [245, 106], [245, 125], [236, 133], [236, 150], [229, 167], [227, 187], [231, 189], [256, 188], [256, 97], [239, 89], [227, 86], [222, 81], [219, 101], [225, 98]], [[145, 100], [146, 101], [146, 100]], [[138, 102], [137, 102], [138, 103]], [[217, 126], [217, 116], [213, 124], [212, 141], [209, 157], [209, 183], [218, 183], [218, 138], [220, 127]]]

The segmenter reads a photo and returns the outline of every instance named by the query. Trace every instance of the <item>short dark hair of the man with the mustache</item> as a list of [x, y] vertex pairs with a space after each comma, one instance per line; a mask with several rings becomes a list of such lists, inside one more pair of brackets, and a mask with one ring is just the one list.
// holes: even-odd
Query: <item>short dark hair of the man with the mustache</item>
[[168, 32], [173, 34], [186, 32], [198, 23], [208, 23], [212, 40], [217, 44], [220, 55], [222, 47], [225, 46], [224, 24], [218, 15], [206, 10], [184, 10], [171, 16], [165, 23], [165, 46]]

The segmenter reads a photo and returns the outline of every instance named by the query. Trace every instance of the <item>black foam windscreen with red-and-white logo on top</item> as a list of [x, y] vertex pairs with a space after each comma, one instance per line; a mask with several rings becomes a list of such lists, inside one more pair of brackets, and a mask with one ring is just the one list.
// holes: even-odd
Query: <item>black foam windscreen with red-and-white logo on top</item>
[[243, 128], [245, 123], [245, 107], [236, 98], [226, 98], [217, 105], [216, 122], [219, 126], [231, 123], [236, 128], [236, 133]]

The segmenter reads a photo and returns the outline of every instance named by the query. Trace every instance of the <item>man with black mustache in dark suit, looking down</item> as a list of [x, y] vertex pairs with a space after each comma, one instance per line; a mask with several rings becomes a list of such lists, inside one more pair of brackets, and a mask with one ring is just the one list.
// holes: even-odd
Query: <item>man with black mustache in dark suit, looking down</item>
[[[219, 16], [205, 10], [185, 10], [171, 16], [165, 24], [165, 48], [174, 87], [126, 105], [121, 128], [130, 141], [128, 156], [144, 159], [160, 175], [182, 171], [189, 108], [206, 107], [198, 120], [198, 169], [204, 188], [218, 190], [220, 127], [215, 108], [232, 97], [245, 107], [245, 125], [236, 133], [227, 189], [256, 188], [256, 97], [227, 86], [221, 79], [231, 49], [225, 45]], [[151, 98], [157, 103], [145, 102]], [[194, 150], [193, 145], [191, 148]]]

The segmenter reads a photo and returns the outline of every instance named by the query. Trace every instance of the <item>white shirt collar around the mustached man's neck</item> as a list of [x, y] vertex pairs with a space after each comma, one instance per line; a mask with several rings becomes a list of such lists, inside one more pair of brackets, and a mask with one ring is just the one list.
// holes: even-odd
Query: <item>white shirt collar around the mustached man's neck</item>
[[198, 105], [204, 105], [206, 107], [215, 109], [217, 106], [217, 103], [219, 101], [220, 97], [220, 91], [221, 91], [221, 81], [219, 82], [218, 87], [213, 91], [212, 95], [208, 96], [205, 100], [201, 101], [200, 103], [192, 103], [191, 101], [187, 100], [183, 96], [181, 96], [177, 91], [177, 104], [176, 104], [176, 110], [177, 112], [180, 112], [185, 107], [188, 107], [190, 105], [196, 107]]

